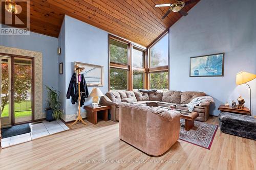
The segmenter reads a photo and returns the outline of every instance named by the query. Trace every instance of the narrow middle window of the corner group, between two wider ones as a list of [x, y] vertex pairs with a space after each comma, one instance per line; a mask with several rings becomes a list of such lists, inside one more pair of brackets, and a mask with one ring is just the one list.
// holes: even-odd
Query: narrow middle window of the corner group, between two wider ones
[[133, 89], [146, 87], [145, 50], [134, 46], [133, 53]]

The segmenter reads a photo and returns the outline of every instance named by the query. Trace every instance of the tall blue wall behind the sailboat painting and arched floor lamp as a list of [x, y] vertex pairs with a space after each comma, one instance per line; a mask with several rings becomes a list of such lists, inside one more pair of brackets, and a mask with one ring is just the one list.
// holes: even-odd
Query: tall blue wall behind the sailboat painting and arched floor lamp
[[[225, 102], [241, 95], [249, 107], [249, 88], [236, 85], [237, 72], [256, 74], [256, 1], [201, 0], [170, 31], [170, 89], [203, 91], [215, 99], [210, 114], [218, 115]], [[189, 58], [225, 53], [224, 77], [189, 78]], [[256, 115], [256, 80], [252, 113]]]

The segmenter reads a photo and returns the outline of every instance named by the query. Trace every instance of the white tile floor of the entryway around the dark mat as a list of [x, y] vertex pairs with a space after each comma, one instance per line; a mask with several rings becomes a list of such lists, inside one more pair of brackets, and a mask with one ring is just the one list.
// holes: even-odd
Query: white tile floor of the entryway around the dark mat
[[30, 133], [2, 139], [2, 147], [9, 147], [13, 144], [23, 143], [42, 136], [47, 136], [57, 132], [69, 130], [69, 127], [67, 127], [61, 120], [55, 120], [53, 122], [47, 122], [46, 120], [44, 120], [42, 121], [42, 123], [39, 124], [30, 124], [30, 129]]

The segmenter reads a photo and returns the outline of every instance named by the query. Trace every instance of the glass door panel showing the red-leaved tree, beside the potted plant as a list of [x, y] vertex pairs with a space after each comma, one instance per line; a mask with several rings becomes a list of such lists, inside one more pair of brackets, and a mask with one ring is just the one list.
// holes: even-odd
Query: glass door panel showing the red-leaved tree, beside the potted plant
[[14, 58], [14, 123], [32, 121], [32, 59]]

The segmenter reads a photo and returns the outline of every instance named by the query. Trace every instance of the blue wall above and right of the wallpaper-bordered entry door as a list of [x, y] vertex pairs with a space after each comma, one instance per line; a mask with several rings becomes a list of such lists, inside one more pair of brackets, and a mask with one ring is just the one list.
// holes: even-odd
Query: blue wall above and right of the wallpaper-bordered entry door
[[[15, 47], [42, 53], [42, 81], [58, 90], [58, 39], [42, 34], [30, 32], [28, 36], [0, 36], [0, 45]], [[36, 76], [36, 75], [35, 75]], [[43, 109], [47, 106], [46, 90], [42, 96]]]

